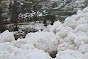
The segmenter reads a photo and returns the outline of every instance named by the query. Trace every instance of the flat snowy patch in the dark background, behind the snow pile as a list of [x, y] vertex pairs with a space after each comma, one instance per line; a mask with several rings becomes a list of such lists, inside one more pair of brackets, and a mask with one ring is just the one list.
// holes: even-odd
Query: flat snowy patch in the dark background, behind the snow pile
[[43, 30], [46, 28], [43, 23], [39, 23], [38, 21], [27, 22], [27, 23], [22, 23], [22, 24], [27, 24], [27, 25], [19, 25], [19, 29], [29, 29], [29, 30], [35, 29], [38, 31], [38, 30]]

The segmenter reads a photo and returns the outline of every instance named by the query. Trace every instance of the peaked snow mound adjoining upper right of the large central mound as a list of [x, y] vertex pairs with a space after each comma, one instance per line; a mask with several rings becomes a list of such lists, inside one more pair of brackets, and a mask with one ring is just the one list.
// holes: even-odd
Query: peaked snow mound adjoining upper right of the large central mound
[[56, 21], [54, 25], [48, 26], [45, 31], [53, 32], [59, 38], [67, 37], [69, 32], [73, 32], [73, 29], [69, 26], [64, 26], [60, 21]]

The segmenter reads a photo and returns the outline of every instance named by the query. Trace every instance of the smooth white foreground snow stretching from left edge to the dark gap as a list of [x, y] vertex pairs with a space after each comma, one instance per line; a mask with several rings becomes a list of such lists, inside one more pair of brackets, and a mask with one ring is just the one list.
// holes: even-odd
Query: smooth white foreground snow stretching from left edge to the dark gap
[[39, 49], [24, 50], [9, 42], [0, 44], [0, 47], [1, 59], [51, 59], [48, 53]]

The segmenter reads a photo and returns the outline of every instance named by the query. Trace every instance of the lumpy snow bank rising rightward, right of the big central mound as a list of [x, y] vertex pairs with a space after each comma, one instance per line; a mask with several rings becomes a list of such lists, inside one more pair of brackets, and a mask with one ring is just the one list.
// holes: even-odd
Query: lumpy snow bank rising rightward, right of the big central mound
[[[54, 25], [47, 27], [47, 29], [46, 31], [55, 33], [59, 38], [56, 59], [87, 58], [88, 7], [84, 8], [83, 11], [78, 11], [75, 15], [67, 17], [63, 24], [56, 21]], [[68, 53], [67, 49], [71, 54]], [[74, 53], [78, 54], [80, 57], [73, 56], [72, 54]]]

